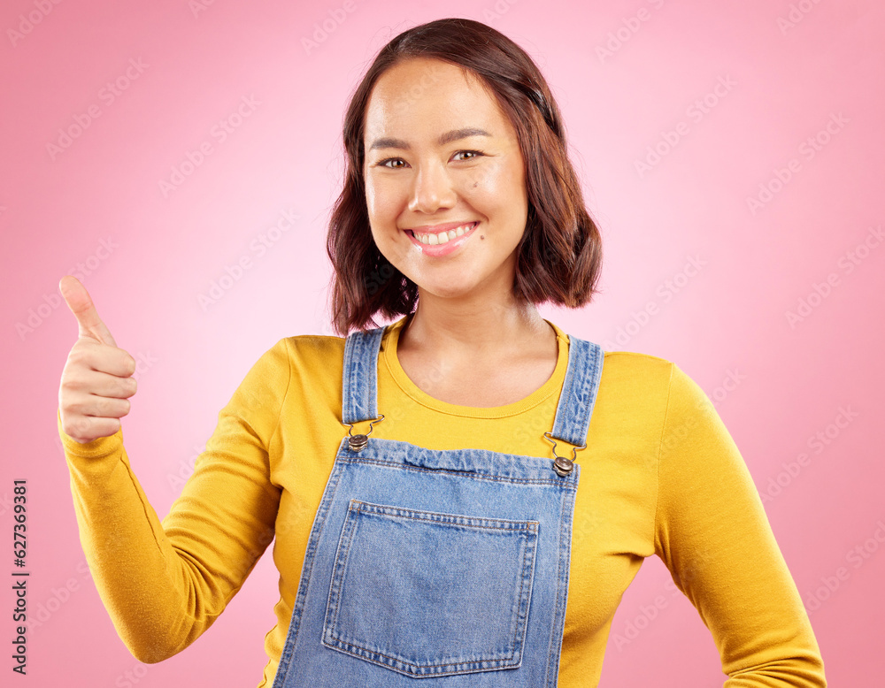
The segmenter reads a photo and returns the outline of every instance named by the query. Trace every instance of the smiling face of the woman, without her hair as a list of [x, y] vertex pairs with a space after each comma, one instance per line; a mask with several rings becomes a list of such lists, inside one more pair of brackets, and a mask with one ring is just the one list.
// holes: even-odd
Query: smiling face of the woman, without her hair
[[441, 297], [511, 294], [525, 163], [495, 97], [456, 65], [412, 58], [366, 108], [366, 204], [390, 264]]

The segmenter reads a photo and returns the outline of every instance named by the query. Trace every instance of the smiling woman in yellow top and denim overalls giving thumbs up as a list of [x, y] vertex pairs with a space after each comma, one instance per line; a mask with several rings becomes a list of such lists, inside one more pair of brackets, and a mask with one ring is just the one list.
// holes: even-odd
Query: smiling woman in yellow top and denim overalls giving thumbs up
[[258, 360], [162, 524], [119, 429], [135, 361], [61, 282], [81, 339], [59, 432], [133, 654], [193, 642], [275, 535], [259, 686], [596, 685], [650, 554], [710, 628], [726, 685], [826, 685], [711, 402], [673, 363], [604, 354], [536, 309], [589, 302], [601, 254], [527, 54], [466, 19], [414, 27], [376, 57], [343, 135], [327, 248], [347, 336]]

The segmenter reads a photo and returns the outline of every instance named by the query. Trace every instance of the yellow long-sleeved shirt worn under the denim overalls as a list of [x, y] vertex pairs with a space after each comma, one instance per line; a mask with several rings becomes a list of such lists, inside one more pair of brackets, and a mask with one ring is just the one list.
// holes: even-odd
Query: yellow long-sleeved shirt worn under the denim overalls
[[[558, 363], [542, 387], [506, 406], [470, 408], [437, 401], [406, 376], [396, 356], [404, 321], [381, 341], [385, 418], [373, 437], [551, 457], [543, 432], [553, 427], [565, 379], [566, 333], [550, 323]], [[267, 350], [220, 411], [162, 522], [135, 478], [122, 432], [79, 444], [59, 415], [81, 544], [120, 638], [140, 661], [164, 660], [196, 640], [275, 537], [281, 595], [258, 688], [273, 684], [313, 518], [347, 434], [343, 353], [342, 338], [319, 335], [287, 337]], [[606, 353], [588, 447], [577, 462], [560, 686], [598, 683], [621, 595], [651, 554], [711, 631], [727, 688], [826, 685], [749, 470], [691, 378], [655, 356]]]

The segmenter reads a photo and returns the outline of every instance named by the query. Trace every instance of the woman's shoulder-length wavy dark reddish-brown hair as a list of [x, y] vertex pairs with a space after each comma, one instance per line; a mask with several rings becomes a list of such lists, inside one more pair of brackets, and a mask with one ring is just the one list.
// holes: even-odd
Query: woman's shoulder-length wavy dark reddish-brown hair
[[377, 327], [375, 314], [408, 315], [418, 302], [415, 283], [375, 245], [363, 179], [365, 114], [372, 89], [381, 74], [410, 57], [440, 59], [479, 76], [516, 129], [528, 197], [526, 231], [517, 247], [516, 297], [568, 308], [589, 302], [597, 291], [602, 242], [584, 207], [550, 87], [526, 51], [496, 29], [472, 19], [436, 19], [385, 45], [350, 97], [342, 131], [344, 187], [329, 220], [326, 246], [335, 269], [330, 282], [335, 331], [346, 336], [353, 329]]

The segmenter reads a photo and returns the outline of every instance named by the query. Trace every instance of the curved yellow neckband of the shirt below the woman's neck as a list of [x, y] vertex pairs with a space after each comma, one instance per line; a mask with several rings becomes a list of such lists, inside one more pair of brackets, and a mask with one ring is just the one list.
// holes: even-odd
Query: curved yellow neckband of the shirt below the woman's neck
[[514, 416], [523, 413], [528, 409], [533, 409], [542, 401], [549, 399], [550, 395], [558, 394], [562, 390], [563, 382], [566, 378], [566, 367], [568, 365], [568, 335], [559, 327], [550, 322], [547, 318], [543, 318], [544, 322], [550, 325], [557, 337], [558, 354], [556, 368], [550, 378], [532, 394], [513, 401], [504, 406], [461, 406], [459, 404], [450, 404], [447, 401], [441, 401], [427, 394], [419, 386], [417, 386], [399, 363], [399, 357], [396, 355], [396, 348], [399, 343], [399, 334], [403, 330], [403, 325], [408, 316], [403, 316], [394, 323], [387, 326], [384, 336], [381, 339], [381, 356], [390, 375], [394, 378], [396, 385], [422, 406], [433, 409], [440, 413], [450, 416], [471, 417], [471, 418], [501, 418], [506, 416]]

